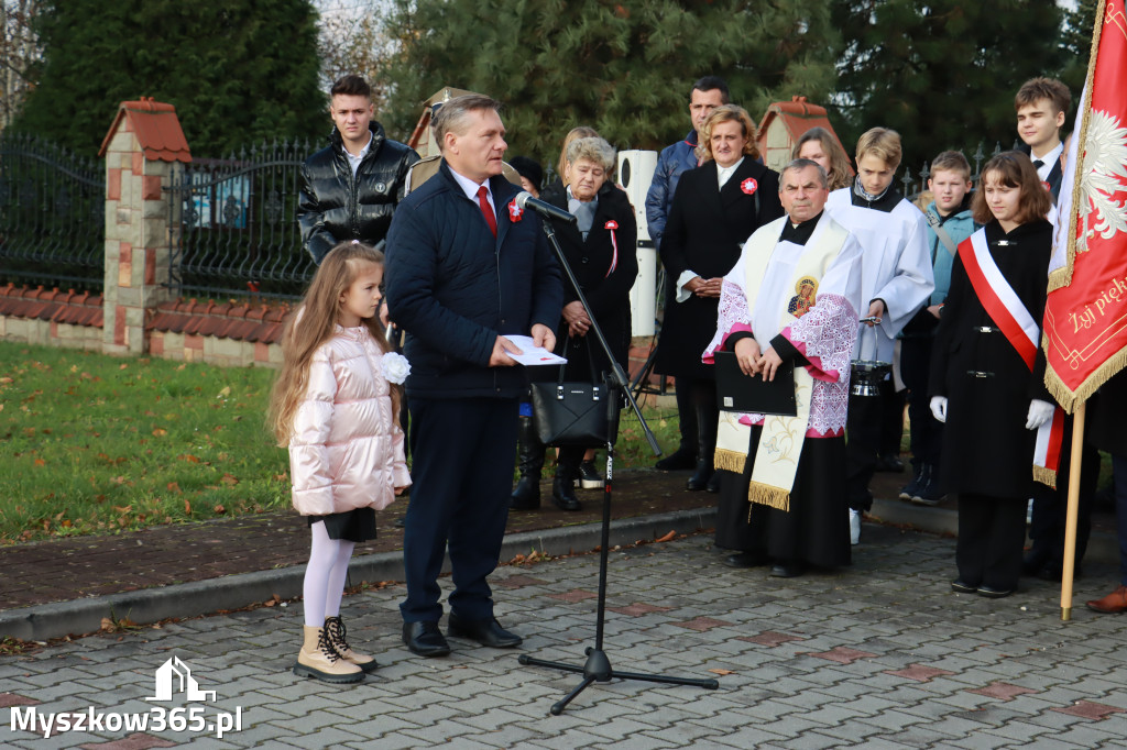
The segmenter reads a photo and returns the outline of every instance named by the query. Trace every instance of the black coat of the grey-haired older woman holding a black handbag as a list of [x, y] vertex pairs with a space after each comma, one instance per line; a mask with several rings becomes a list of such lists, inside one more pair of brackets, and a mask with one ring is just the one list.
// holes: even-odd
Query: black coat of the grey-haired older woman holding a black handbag
[[[551, 203], [567, 211], [567, 193], [557, 194]], [[556, 229], [564, 257], [571, 267], [579, 288], [583, 289], [587, 304], [595, 314], [595, 322], [606, 337], [614, 358], [627, 369], [627, 357], [630, 351], [630, 288], [638, 279], [638, 225], [633, 208], [627, 194], [606, 182], [598, 190], [598, 207], [595, 208], [595, 221], [591, 232], [584, 240], [575, 224], [551, 220]], [[614, 244], [611, 243], [611, 230], [607, 223], [618, 224], [614, 229]], [[611, 271], [614, 257], [614, 245], [618, 245], [618, 261]], [[578, 300], [571, 282], [564, 275], [564, 304]], [[606, 357], [595, 339], [594, 331], [568, 341], [567, 323], [560, 320], [556, 331], [556, 351], [568, 358], [566, 377], [571, 381], [586, 381], [591, 377], [588, 356], [595, 351], [595, 372], [610, 369]], [[540, 368], [547, 369], [547, 368]], [[556, 370], [556, 375], [559, 370]]]

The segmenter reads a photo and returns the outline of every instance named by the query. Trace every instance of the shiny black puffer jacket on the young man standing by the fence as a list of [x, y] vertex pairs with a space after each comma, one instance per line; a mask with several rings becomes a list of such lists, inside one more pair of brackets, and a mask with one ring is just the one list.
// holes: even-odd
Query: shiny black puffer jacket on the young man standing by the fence
[[384, 136], [372, 120], [372, 145], [353, 177], [340, 132], [301, 168], [298, 223], [305, 251], [320, 265], [337, 243], [360, 240], [376, 245], [388, 234], [391, 215], [403, 199], [407, 171], [419, 160], [415, 150]]

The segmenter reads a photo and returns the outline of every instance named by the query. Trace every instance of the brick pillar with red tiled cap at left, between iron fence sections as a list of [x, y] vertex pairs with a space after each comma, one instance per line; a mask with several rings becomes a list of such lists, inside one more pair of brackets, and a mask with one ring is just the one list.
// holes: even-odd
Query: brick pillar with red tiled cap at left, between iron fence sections
[[170, 298], [169, 200], [161, 188], [170, 184], [177, 162], [190, 161], [190, 155], [175, 109], [151, 99], [122, 102], [101, 154], [106, 159], [103, 351], [144, 354], [145, 322], [158, 304]]

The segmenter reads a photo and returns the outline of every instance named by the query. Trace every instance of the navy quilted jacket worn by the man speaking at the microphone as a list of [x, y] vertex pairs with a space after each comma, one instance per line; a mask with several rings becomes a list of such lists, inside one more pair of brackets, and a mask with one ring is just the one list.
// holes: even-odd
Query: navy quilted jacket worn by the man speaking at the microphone
[[[560, 319], [560, 270], [525, 211], [513, 221], [520, 186], [489, 180], [497, 236], [443, 160], [438, 173], [403, 198], [388, 232], [388, 312], [407, 331], [410, 399], [517, 398], [525, 368], [489, 367], [498, 336], [531, 333]], [[456, 426], [452, 426], [452, 429]]]

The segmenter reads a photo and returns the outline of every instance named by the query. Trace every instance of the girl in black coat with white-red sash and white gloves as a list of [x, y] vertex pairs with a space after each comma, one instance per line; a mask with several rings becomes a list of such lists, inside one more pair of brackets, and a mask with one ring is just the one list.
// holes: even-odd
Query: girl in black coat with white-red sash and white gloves
[[930, 395], [947, 423], [942, 488], [959, 498], [961, 593], [1005, 597], [1021, 575], [1037, 430], [1055, 411], [1039, 346], [1050, 200], [1027, 155], [986, 163], [973, 204], [985, 226], [959, 245], [940, 314]]

